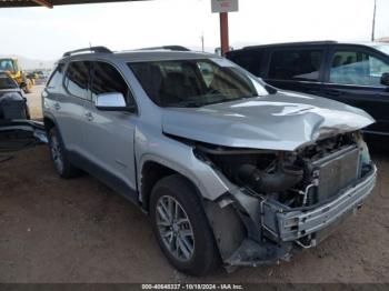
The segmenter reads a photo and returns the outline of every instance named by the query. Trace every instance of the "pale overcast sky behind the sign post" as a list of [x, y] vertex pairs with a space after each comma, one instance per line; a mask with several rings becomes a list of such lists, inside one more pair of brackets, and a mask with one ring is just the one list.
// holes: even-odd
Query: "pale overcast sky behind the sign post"
[[[373, 0], [239, 0], [230, 13], [230, 42], [368, 41]], [[0, 54], [58, 59], [63, 51], [101, 44], [112, 50], [161, 44], [219, 46], [210, 0], [154, 0], [0, 10]], [[389, 1], [378, 0], [377, 38], [389, 37]]]

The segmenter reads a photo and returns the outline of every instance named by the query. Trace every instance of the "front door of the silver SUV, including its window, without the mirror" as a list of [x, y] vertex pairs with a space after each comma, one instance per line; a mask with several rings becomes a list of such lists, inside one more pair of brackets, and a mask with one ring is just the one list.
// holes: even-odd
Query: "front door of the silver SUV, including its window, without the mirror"
[[91, 100], [83, 111], [87, 158], [91, 171], [118, 192], [136, 199], [134, 130], [137, 113], [102, 111], [94, 106], [96, 96], [122, 93], [128, 106], [134, 106], [130, 87], [113, 64], [93, 61]]

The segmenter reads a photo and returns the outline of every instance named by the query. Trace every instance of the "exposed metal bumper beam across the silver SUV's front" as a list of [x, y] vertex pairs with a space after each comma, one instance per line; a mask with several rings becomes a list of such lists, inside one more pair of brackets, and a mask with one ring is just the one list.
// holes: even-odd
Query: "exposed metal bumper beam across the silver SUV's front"
[[358, 209], [372, 192], [376, 184], [377, 168], [343, 189], [336, 199], [310, 208], [291, 209], [277, 201], [261, 202], [261, 227], [278, 242], [297, 241], [317, 233], [341, 221], [348, 213]]

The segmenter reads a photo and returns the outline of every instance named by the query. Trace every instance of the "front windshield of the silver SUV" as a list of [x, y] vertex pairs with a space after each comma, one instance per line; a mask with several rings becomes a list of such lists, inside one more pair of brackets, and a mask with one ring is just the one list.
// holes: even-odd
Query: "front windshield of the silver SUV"
[[249, 73], [225, 59], [128, 64], [160, 107], [201, 107], [268, 94]]

